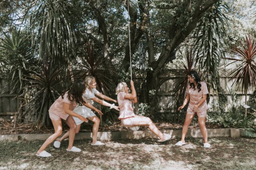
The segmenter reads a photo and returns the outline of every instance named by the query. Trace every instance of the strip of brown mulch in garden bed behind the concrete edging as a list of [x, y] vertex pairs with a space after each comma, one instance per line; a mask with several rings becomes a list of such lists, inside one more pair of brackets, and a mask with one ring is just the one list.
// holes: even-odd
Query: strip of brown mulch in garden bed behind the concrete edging
[[[177, 130], [182, 129], [183, 124], [175, 124], [169, 122], [154, 122], [158, 129], [161, 130]], [[80, 132], [91, 132], [93, 127], [93, 122], [83, 123], [81, 125]], [[206, 123], [207, 129], [217, 129], [224, 128], [219, 124]], [[66, 123], [63, 122], [63, 131], [67, 131], [69, 128]], [[192, 122], [189, 129], [199, 129], [197, 122]], [[99, 127], [100, 132], [107, 131], [130, 131], [130, 128], [124, 127], [120, 122], [113, 122], [105, 124]], [[141, 126], [140, 130], [149, 130], [146, 126]], [[14, 123], [10, 120], [0, 118], [0, 134], [1, 135], [15, 135], [15, 134], [44, 134], [44, 133], [54, 133], [53, 127], [48, 129], [46, 127], [37, 129], [33, 123], [17, 123], [14, 127]]]

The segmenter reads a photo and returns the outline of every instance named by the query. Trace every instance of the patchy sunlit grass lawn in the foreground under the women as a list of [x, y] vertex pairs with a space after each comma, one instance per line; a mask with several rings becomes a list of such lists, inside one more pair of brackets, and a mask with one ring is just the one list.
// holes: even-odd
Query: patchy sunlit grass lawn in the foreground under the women
[[0, 141], [0, 170], [256, 170], [256, 139], [212, 137], [209, 149], [201, 138], [186, 138], [182, 147], [177, 141], [127, 139], [98, 147], [75, 141], [81, 153], [66, 151], [63, 141], [59, 149], [47, 147], [49, 158], [35, 156], [44, 141]]

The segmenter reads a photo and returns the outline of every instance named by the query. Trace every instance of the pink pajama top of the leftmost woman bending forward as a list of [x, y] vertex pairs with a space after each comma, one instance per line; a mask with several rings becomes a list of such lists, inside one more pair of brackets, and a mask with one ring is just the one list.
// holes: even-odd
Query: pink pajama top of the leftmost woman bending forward
[[64, 94], [63, 99], [61, 96], [51, 105], [49, 112], [59, 117], [68, 117], [69, 115], [64, 111], [64, 103], [70, 104], [70, 110], [73, 111], [76, 108], [76, 102], [74, 104], [67, 97], [67, 92]]

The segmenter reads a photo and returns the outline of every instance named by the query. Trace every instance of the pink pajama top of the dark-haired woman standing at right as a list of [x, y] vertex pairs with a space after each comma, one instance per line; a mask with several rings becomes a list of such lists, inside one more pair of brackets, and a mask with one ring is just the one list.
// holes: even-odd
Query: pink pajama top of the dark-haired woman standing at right
[[[193, 112], [193, 108], [195, 105], [197, 105], [200, 100], [203, 98], [204, 94], [208, 94], [207, 84], [205, 82], [200, 82], [201, 84], [201, 91], [198, 92], [198, 89], [196, 88], [190, 88], [190, 84], [187, 86], [187, 94], [189, 94], [189, 112]], [[205, 100], [204, 103], [202, 103], [198, 107], [198, 112], [206, 111], [207, 110], [207, 101]]]

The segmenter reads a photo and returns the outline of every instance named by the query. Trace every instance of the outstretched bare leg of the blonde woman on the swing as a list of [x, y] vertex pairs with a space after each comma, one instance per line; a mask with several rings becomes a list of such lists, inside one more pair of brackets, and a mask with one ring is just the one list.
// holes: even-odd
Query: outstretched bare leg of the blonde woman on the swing
[[134, 126], [140, 125], [140, 126], [148, 126], [148, 128], [153, 132], [155, 135], [157, 135], [160, 140], [164, 140], [163, 133], [157, 129], [157, 127], [154, 125], [152, 120], [145, 116], [139, 116], [136, 115], [136, 117], [131, 119], [134, 122]]

